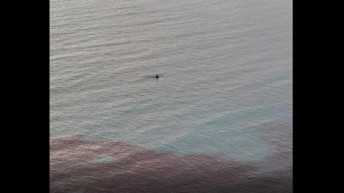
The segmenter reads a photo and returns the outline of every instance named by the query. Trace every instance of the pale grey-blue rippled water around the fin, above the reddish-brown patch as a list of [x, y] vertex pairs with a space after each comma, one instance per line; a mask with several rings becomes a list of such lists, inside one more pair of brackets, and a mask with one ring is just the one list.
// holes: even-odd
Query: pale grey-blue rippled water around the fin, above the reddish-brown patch
[[50, 0], [50, 136], [291, 177], [292, 1]]

